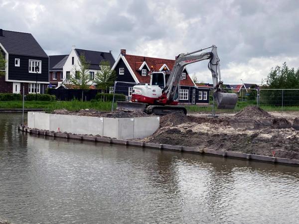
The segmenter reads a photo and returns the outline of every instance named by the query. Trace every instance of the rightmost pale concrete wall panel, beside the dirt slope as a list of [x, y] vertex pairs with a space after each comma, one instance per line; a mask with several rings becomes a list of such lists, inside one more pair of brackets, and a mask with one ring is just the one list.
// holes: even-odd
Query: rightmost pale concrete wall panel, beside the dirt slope
[[152, 135], [160, 125], [160, 117], [134, 117], [134, 138], [145, 138]]

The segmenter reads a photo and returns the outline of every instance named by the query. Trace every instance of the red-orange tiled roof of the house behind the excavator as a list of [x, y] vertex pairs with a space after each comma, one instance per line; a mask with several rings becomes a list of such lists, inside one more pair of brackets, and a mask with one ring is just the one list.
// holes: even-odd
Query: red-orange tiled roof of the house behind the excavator
[[[142, 76], [138, 69], [142, 65], [144, 61], [147, 62], [149, 69], [153, 68], [154, 71], [159, 71], [159, 69], [166, 64], [170, 71], [173, 68], [173, 65], [175, 63], [175, 60], [170, 59], [162, 59], [162, 58], [151, 58], [151, 57], [145, 57], [145, 56], [137, 56], [137, 55], [124, 55], [127, 62], [129, 63], [130, 67], [132, 68], [134, 74], [136, 75], [137, 79], [140, 83], [149, 83], [150, 82], [150, 76]], [[182, 86], [194, 86], [191, 78], [189, 77], [189, 74], [186, 74], [186, 79], [183, 79], [180, 81], [180, 85]]]

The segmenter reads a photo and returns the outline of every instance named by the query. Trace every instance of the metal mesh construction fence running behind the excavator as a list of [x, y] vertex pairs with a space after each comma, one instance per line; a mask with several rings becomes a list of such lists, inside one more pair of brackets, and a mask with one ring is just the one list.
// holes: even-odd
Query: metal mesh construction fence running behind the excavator
[[[115, 82], [110, 88], [110, 93], [124, 94], [126, 98], [113, 98], [113, 103], [117, 101], [130, 101], [133, 87], [145, 85], [141, 83]], [[233, 110], [217, 109], [216, 101], [213, 98], [213, 88], [180, 86], [179, 104], [184, 106], [189, 113], [235, 113], [247, 106], [259, 106], [266, 111], [287, 112], [299, 111], [299, 89], [234, 89], [223, 88], [227, 93], [236, 93], [238, 102]], [[114, 104], [113, 104], [114, 105]], [[112, 107], [112, 110], [115, 106]]]

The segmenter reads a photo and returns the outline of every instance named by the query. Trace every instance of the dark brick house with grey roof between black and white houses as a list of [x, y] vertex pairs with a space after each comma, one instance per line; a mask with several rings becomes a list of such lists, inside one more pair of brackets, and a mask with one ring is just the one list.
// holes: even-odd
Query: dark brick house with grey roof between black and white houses
[[50, 55], [49, 56], [49, 88], [58, 87], [58, 83], [63, 81], [63, 66], [68, 55]]

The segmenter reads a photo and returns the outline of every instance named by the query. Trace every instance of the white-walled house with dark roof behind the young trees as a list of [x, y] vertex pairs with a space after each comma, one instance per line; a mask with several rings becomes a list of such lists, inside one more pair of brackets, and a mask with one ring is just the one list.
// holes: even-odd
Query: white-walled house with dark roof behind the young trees
[[[83, 50], [77, 49], [75, 46], [72, 46], [72, 50], [69, 55], [55, 55], [50, 57], [50, 61], [53, 59], [53, 63], [55, 64], [50, 69], [50, 78], [51, 85], [56, 88], [60, 88], [63, 85], [62, 82], [65, 81], [70, 76], [75, 76], [76, 70], [80, 69], [81, 61], [80, 56], [84, 56], [87, 63], [89, 64], [89, 70], [87, 71], [90, 75], [90, 80], [94, 80], [95, 74], [101, 71], [100, 63], [102, 61], [108, 61], [110, 66], [115, 63], [115, 59], [111, 53], [109, 52], [101, 52], [101, 51], [91, 51], [91, 50]], [[60, 60], [60, 61], [59, 61]], [[56, 78], [56, 80], [54, 79]], [[57, 84], [56, 84], [57, 83]], [[95, 87], [95, 84], [91, 81], [90, 85]]]

